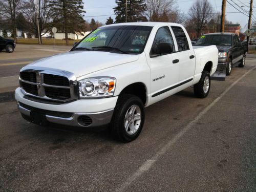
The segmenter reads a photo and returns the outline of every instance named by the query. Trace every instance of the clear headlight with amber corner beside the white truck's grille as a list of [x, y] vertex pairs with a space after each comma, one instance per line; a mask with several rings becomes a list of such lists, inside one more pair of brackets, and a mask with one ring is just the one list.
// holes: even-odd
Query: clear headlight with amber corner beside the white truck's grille
[[80, 98], [111, 97], [114, 95], [114, 77], [94, 77], [78, 81]]

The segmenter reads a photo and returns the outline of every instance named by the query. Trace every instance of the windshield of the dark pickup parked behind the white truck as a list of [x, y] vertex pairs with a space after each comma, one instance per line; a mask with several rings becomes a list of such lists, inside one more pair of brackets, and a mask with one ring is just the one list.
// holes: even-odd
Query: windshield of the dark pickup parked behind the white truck
[[231, 35], [202, 35], [195, 45], [231, 46]]

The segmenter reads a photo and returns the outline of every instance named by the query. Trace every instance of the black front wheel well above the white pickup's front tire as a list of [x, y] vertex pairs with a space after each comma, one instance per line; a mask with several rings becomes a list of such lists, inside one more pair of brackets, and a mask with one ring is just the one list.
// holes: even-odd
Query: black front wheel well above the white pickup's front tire
[[125, 87], [119, 95], [124, 95], [124, 94], [136, 95], [141, 99], [141, 101], [144, 104], [146, 103], [146, 89], [145, 89], [145, 85], [142, 82], [136, 82]]

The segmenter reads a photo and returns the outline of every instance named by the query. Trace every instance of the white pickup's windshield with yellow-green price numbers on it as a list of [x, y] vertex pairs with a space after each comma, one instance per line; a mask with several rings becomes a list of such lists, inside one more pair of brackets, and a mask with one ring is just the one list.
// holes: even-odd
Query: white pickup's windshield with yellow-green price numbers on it
[[116, 53], [142, 53], [152, 27], [110, 26], [94, 30], [72, 50], [97, 50]]

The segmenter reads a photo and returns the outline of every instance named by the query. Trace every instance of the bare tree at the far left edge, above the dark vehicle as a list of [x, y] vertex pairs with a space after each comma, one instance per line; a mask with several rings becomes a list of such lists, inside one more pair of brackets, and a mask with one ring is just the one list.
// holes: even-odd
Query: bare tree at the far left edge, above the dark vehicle
[[17, 42], [16, 15], [20, 9], [22, 0], [0, 0], [0, 14], [12, 23], [12, 33], [15, 42]]

